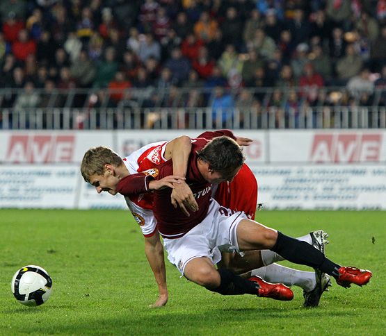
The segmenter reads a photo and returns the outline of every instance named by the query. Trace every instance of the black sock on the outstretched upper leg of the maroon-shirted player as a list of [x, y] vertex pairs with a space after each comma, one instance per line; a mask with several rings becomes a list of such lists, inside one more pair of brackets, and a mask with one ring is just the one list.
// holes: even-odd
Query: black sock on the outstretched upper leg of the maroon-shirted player
[[315, 249], [314, 246], [307, 242], [301, 242], [295, 238], [288, 237], [279, 231], [278, 240], [271, 251], [278, 253], [284, 259], [295, 264], [305, 264], [314, 269], [320, 269], [323, 273], [330, 274], [330, 276], [339, 276], [337, 270], [340, 266], [325, 258], [321, 251]]

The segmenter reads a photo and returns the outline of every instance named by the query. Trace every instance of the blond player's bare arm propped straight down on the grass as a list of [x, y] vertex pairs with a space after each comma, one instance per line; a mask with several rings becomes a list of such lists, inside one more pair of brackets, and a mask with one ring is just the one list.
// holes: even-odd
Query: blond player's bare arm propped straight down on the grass
[[159, 296], [150, 307], [163, 307], [169, 299], [168, 286], [166, 285], [166, 267], [163, 255], [163, 246], [158, 231], [151, 237], [145, 237], [145, 254], [153, 271], [158, 285]]

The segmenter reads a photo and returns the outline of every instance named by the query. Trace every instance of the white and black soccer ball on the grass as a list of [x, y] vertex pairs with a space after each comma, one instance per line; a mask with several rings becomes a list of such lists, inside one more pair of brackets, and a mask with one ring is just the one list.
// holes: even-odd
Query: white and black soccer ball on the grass
[[15, 273], [10, 288], [19, 303], [42, 305], [51, 295], [52, 279], [45, 269], [30, 264]]

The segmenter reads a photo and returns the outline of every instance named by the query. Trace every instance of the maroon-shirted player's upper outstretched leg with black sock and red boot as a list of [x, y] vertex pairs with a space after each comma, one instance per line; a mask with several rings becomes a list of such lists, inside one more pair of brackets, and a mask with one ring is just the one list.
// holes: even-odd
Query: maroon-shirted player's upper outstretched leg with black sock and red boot
[[250, 219], [239, 221], [236, 234], [241, 250], [270, 249], [290, 262], [305, 264], [334, 276], [337, 283], [344, 287], [349, 287], [351, 283], [366, 285], [371, 278], [369, 271], [341, 267], [306, 242], [300, 242]]

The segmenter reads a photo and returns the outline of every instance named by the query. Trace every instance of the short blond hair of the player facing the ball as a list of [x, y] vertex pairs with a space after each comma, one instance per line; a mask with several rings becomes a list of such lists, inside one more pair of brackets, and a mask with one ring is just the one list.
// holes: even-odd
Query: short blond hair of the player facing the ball
[[90, 182], [90, 176], [104, 174], [104, 165], [119, 167], [122, 158], [115, 151], [106, 146], [92, 147], [83, 156], [81, 174], [86, 182]]

